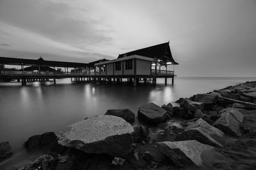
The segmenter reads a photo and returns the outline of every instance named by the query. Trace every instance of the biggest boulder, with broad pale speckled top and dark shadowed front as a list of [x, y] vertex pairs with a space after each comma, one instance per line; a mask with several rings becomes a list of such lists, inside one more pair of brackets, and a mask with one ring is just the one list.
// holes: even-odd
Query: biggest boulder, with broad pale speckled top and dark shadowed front
[[58, 134], [58, 143], [86, 153], [126, 157], [131, 152], [133, 132], [123, 118], [102, 115], [68, 125]]

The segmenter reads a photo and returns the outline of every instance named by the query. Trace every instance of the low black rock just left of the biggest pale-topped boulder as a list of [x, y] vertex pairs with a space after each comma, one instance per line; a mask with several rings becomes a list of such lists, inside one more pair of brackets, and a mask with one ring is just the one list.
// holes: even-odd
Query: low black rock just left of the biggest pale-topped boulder
[[50, 148], [56, 150], [58, 148], [58, 139], [54, 132], [45, 132], [44, 134], [31, 136], [24, 146], [28, 152], [40, 148]]

